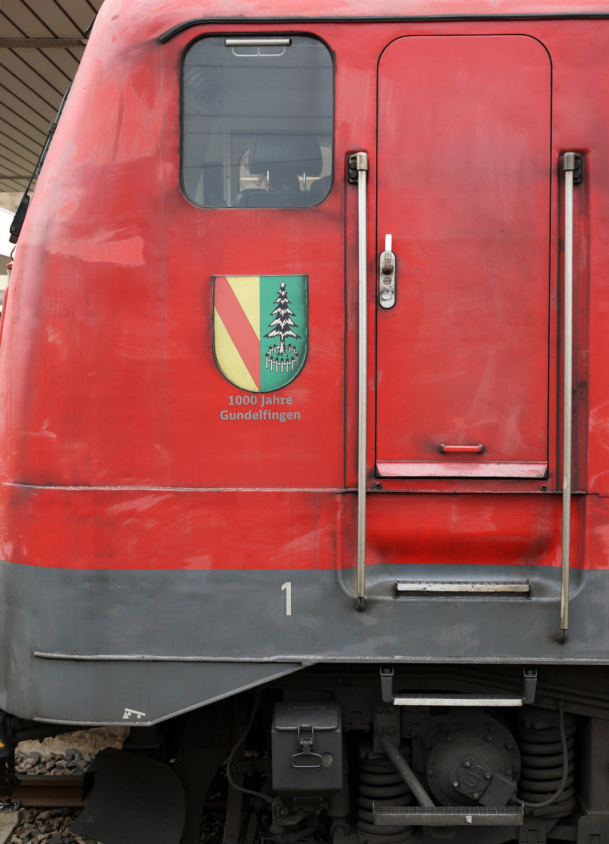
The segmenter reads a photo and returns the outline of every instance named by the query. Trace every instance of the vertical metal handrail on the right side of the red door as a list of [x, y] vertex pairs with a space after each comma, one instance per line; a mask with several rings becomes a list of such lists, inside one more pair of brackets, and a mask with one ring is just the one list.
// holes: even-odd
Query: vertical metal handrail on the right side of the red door
[[563, 328], [563, 549], [560, 577], [560, 634], [569, 628], [571, 555], [571, 428], [573, 395], [573, 176], [575, 153], [563, 154], [564, 170], [564, 328]]

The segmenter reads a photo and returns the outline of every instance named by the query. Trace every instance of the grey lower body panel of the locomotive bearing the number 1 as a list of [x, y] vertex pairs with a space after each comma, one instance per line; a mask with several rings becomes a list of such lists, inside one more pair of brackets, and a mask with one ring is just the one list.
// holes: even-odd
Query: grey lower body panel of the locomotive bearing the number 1
[[396, 597], [455, 567], [355, 571], [83, 571], [0, 563], [0, 708], [63, 723], [152, 723], [312, 663], [609, 664], [609, 572], [460, 566], [521, 594]]

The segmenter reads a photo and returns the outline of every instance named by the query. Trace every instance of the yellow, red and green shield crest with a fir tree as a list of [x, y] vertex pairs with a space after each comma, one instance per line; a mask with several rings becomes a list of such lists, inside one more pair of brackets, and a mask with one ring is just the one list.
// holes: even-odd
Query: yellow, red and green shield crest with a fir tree
[[304, 365], [307, 335], [307, 276], [213, 277], [213, 354], [235, 387], [285, 387]]

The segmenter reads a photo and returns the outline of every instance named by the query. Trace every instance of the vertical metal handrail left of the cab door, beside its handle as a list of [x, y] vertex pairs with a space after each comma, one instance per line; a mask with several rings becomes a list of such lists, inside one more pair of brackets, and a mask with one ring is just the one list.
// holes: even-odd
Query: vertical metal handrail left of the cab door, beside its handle
[[366, 596], [366, 394], [368, 392], [368, 154], [350, 156], [358, 170], [358, 582], [356, 609], [365, 609]]

